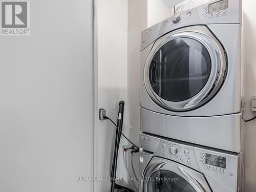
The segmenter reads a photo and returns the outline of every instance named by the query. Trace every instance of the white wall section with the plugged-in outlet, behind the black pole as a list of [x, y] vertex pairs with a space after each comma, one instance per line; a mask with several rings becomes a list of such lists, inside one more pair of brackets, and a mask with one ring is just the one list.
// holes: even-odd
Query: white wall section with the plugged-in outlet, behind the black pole
[[[120, 100], [124, 100], [127, 111], [127, 0], [98, 0], [97, 22], [96, 115], [99, 108], [104, 108], [116, 122]], [[110, 176], [115, 130], [110, 121], [96, 119], [95, 176]], [[95, 182], [95, 192], [105, 191], [110, 191], [110, 182]]]

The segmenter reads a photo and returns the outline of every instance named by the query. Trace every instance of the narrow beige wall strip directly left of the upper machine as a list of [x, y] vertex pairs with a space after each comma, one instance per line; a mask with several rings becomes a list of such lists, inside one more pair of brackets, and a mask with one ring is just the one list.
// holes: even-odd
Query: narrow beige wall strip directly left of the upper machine
[[128, 2], [127, 125], [129, 136], [139, 145], [140, 133], [140, 36], [147, 28], [147, 0]]

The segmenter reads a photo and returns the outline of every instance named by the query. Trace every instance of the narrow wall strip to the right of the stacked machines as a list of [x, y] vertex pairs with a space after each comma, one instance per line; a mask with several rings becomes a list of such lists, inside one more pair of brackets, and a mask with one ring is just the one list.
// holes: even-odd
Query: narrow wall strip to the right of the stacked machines
[[[256, 1], [244, 0], [244, 33], [246, 63], [246, 119], [255, 116], [250, 110], [251, 97], [256, 96]], [[256, 191], [256, 120], [246, 123], [245, 192]]]

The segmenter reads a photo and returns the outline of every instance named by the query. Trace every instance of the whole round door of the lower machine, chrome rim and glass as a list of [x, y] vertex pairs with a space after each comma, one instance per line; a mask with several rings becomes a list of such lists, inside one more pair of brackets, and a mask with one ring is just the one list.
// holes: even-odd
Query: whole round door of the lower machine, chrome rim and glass
[[143, 192], [210, 192], [204, 176], [184, 165], [154, 157], [142, 180]]

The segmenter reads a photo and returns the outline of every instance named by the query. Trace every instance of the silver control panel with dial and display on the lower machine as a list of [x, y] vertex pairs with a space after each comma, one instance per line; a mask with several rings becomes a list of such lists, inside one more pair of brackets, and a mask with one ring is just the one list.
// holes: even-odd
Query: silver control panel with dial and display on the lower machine
[[241, 154], [141, 133], [140, 147], [148, 154], [169, 159], [203, 173], [206, 179], [224, 183], [236, 191]]

